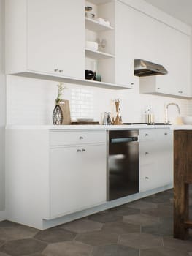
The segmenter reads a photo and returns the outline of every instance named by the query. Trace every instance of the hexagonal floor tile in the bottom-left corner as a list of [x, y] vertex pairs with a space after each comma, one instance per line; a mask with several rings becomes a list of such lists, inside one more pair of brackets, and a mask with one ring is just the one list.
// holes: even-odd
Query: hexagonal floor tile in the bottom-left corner
[[0, 247], [0, 251], [12, 256], [23, 256], [42, 252], [46, 246], [45, 242], [36, 239], [20, 239], [7, 241], [6, 244]]

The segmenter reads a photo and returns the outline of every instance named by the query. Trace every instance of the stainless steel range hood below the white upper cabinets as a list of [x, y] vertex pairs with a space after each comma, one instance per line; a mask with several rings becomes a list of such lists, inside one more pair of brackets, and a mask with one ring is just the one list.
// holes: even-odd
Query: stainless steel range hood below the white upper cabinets
[[134, 59], [134, 75], [146, 77], [148, 75], [166, 75], [167, 73], [162, 65], [144, 59]]

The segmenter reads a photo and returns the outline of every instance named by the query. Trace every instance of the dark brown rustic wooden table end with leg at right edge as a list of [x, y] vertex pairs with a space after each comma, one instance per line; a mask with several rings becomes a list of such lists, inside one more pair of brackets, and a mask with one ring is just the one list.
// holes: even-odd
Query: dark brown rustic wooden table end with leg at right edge
[[189, 185], [192, 184], [192, 129], [174, 130], [174, 238], [188, 238]]

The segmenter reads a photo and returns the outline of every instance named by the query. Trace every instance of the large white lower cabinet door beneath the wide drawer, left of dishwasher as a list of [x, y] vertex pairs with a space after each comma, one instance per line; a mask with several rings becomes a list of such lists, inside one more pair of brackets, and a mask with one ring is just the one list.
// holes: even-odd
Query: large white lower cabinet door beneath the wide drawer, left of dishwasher
[[50, 217], [105, 201], [105, 144], [50, 148]]

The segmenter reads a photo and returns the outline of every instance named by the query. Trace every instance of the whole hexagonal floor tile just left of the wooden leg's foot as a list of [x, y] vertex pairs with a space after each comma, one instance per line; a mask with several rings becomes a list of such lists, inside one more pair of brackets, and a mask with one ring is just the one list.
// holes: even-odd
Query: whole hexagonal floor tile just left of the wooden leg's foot
[[118, 244], [123, 244], [135, 249], [147, 249], [162, 246], [162, 238], [147, 233], [128, 233], [120, 236]]

